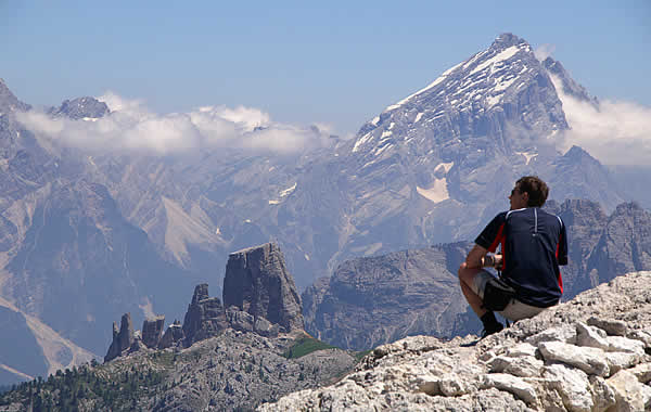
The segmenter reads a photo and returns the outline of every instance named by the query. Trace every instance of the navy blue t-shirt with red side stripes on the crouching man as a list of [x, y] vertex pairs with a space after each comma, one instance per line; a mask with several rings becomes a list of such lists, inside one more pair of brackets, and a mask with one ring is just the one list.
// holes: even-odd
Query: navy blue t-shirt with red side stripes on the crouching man
[[518, 300], [538, 308], [559, 301], [559, 265], [567, 265], [567, 235], [560, 217], [537, 207], [503, 211], [475, 243], [493, 253], [501, 245], [502, 279], [515, 288]]

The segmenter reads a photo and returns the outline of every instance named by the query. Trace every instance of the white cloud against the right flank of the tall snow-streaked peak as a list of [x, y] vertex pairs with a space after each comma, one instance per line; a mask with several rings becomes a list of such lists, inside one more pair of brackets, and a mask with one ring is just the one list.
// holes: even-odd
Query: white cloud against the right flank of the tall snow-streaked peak
[[571, 130], [560, 137], [560, 149], [578, 145], [605, 165], [649, 165], [651, 107], [601, 101], [599, 106], [563, 93], [552, 76]]

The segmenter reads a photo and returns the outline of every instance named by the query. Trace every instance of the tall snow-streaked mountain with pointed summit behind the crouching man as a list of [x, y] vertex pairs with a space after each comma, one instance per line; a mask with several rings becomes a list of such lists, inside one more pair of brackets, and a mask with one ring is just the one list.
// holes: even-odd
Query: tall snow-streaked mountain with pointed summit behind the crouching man
[[413, 244], [472, 239], [508, 207], [524, 175], [550, 183], [553, 198], [580, 186], [586, 198], [616, 205], [622, 197], [597, 160], [586, 153], [591, 160], [575, 166], [557, 149], [570, 128], [557, 85], [590, 98], [560, 63], [546, 62], [525, 40], [500, 35], [365, 124], [339, 152], [356, 199], [349, 219], [365, 222], [350, 242], [382, 247], [370, 254], [403, 247], [400, 236]]

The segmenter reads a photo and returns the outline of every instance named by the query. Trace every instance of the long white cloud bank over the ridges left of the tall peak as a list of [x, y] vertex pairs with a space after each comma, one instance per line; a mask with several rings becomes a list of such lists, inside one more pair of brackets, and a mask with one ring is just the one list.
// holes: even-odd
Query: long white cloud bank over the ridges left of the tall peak
[[228, 146], [293, 153], [331, 144], [326, 132], [276, 124], [269, 114], [252, 107], [204, 106], [158, 115], [142, 101], [113, 92], [99, 100], [111, 113], [97, 121], [53, 118], [37, 111], [20, 114], [18, 120], [40, 138], [90, 151], [171, 154]]

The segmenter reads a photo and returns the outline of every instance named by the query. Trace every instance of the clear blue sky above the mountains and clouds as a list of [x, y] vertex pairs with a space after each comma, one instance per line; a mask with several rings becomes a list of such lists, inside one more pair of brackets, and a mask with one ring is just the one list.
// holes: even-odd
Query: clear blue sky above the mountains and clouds
[[357, 129], [510, 31], [600, 99], [651, 106], [651, 1], [2, 1], [24, 102], [107, 90], [157, 113], [244, 105]]

